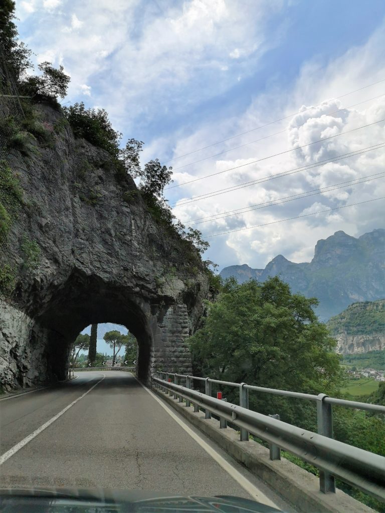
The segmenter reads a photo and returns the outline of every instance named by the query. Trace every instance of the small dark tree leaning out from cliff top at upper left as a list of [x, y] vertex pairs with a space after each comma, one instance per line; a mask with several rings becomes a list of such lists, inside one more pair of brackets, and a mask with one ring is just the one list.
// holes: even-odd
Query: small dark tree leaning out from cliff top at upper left
[[64, 67], [54, 68], [51, 63], [45, 61], [39, 64], [41, 75], [28, 76], [22, 82], [22, 91], [32, 97], [50, 96], [64, 98], [67, 94], [68, 84], [71, 78], [64, 73]]

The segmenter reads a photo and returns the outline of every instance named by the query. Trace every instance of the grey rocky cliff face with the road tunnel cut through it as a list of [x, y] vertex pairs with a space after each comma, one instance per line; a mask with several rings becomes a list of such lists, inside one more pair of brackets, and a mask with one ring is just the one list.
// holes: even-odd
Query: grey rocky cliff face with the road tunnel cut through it
[[186, 339], [208, 293], [197, 253], [151, 217], [106, 152], [75, 140], [53, 108], [36, 115], [49, 144], [30, 137], [2, 161], [23, 200], [0, 255], [15, 278], [0, 298], [0, 383], [64, 379], [72, 341], [104, 322], [136, 336], [143, 380], [155, 368], [191, 371]]

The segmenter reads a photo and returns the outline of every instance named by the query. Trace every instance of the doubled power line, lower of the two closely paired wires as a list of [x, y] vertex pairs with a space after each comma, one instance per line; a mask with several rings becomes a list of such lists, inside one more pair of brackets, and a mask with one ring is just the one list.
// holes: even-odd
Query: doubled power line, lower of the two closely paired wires
[[[254, 210], [260, 210], [262, 208], [275, 207], [277, 205], [283, 205], [284, 203], [290, 203], [292, 201], [304, 200], [306, 198], [310, 198], [311, 196], [316, 196], [317, 194], [324, 194], [325, 192], [331, 192], [331, 191], [335, 191], [337, 189], [343, 189], [344, 187], [347, 186], [347, 184], [350, 184], [349, 187], [353, 187], [355, 185], [359, 185], [359, 184], [362, 184], [365, 182], [371, 182], [372, 180], [379, 180], [380, 178], [385, 178], [385, 174], [383, 174], [383, 173], [384, 173], [384, 171], [381, 171], [380, 173], [369, 174], [368, 176], [361, 176], [359, 178], [355, 178], [354, 180], [348, 180], [346, 182], [339, 182], [338, 184], [332, 184], [332, 185], [328, 185], [326, 187], [312, 189], [310, 191], [300, 192], [298, 194], [292, 194], [291, 196], [285, 196], [284, 198], [279, 198], [278, 200], [271, 200], [271, 201], [266, 201], [264, 203], [259, 203], [257, 205], [251, 205], [250, 207], [243, 207], [243, 208], [249, 209], [249, 210], [244, 210], [243, 212], [228, 213], [227, 215], [221, 215], [214, 219], [200, 221], [199, 223], [188, 223], [187, 222], [187, 224], [189, 226], [196, 226], [196, 225], [203, 224], [203, 223], [211, 223], [213, 221], [217, 221], [218, 219], [230, 218], [233, 215], [247, 214], [248, 212], [253, 212]], [[359, 182], [359, 180], [360, 180], [360, 182]], [[355, 183], [352, 183], [352, 182], [355, 182]], [[335, 187], [337, 185], [339, 187]], [[331, 187], [333, 187], [333, 189], [331, 189]], [[324, 190], [321, 190], [321, 189], [324, 189]], [[300, 197], [298, 198], [296, 196], [300, 196]], [[281, 201], [281, 200], [285, 200], [285, 201]], [[256, 207], [256, 208], [252, 208], [252, 207]], [[238, 209], [238, 210], [241, 210], [241, 209]], [[231, 210], [230, 210], [230, 212], [231, 212]], [[213, 214], [213, 215], [216, 215], [216, 214]]]

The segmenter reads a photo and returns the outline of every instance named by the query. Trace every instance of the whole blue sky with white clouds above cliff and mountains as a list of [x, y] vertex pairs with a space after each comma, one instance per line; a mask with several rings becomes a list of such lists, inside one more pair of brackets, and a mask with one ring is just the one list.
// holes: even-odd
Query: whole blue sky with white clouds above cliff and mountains
[[338, 230], [384, 228], [383, 0], [16, 0], [16, 15], [35, 63], [71, 76], [62, 104], [105, 108], [143, 165], [173, 167], [165, 196], [219, 269], [309, 262]]

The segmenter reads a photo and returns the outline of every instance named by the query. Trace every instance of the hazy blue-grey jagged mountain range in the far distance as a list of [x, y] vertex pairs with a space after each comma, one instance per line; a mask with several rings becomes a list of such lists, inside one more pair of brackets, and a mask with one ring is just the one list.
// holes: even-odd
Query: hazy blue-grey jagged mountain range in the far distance
[[317, 242], [309, 263], [296, 264], [278, 255], [265, 269], [234, 265], [220, 274], [234, 276], [239, 283], [280, 275], [294, 292], [318, 298], [317, 313], [326, 321], [354, 302], [385, 297], [385, 230], [373, 230], [358, 239], [337, 231]]

